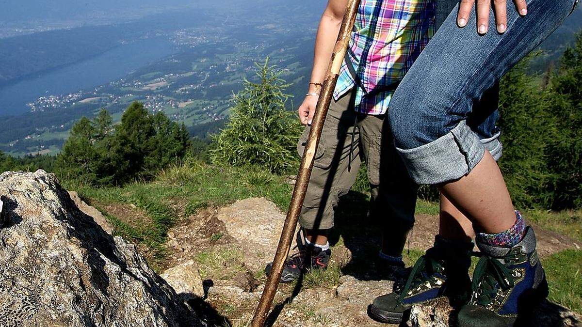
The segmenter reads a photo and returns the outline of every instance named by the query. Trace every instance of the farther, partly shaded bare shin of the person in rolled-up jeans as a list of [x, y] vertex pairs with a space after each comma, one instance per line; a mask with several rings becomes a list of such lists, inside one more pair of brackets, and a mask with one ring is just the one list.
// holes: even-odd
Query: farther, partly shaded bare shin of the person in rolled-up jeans
[[440, 196], [439, 235], [448, 240], [470, 242], [475, 237], [473, 223], [448, 198]]

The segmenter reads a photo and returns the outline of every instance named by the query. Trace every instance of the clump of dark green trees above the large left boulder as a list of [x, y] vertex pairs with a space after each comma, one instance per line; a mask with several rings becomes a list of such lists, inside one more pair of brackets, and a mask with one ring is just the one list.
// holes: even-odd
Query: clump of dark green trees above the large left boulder
[[184, 125], [134, 102], [115, 126], [105, 110], [93, 120], [81, 118], [71, 129], [55, 165], [66, 178], [118, 185], [149, 179], [159, 169], [179, 162], [190, 147]]

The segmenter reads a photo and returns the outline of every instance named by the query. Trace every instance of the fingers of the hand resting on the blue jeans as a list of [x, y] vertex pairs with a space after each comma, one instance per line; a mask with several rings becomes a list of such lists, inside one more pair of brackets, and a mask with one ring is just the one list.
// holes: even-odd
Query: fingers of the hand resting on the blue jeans
[[[479, 34], [485, 34], [489, 30], [491, 1], [494, 2], [495, 23], [497, 24], [498, 33], [505, 33], [508, 28], [506, 0], [477, 0], [477, 32]], [[519, 12], [521, 16], [526, 16], [526, 0], [513, 0], [513, 2], [515, 2], [517, 12]], [[457, 24], [459, 27], [467, 26], [469, 14], [471, 10], [473, 10], [474, 3], [475, 0], [461, 0], [461, 4], [459, 5], [459, 15], [457, 16]]]

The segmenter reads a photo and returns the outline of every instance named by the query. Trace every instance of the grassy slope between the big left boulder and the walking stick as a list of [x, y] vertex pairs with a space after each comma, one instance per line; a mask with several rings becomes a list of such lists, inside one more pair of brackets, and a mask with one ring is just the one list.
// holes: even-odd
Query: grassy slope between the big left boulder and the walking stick
[[[150, 183], [134, 182], [123, 187], [95, 188], [86, 185], [66, 185], [88, 203], [99, 204], [116, 233], [147, 246], [152, 251], [150, 262], [156, 270], [164, 265], [164, 243], [168, 230], [178, 216], [189, 216], [200, 208], [222, 206], [249, 197], [265, 197], [286, 211], [292, 187], [285, 177], [272, 175], [254, 167], [217, 167], [199, 161], [189, 161], [162, 170]], [[108, 214], [106, 205], [133, 205], [147, 214], [147, 221], [131, 225], [125, 217]], [[223, 235], [215, 234], [212, 241]]]

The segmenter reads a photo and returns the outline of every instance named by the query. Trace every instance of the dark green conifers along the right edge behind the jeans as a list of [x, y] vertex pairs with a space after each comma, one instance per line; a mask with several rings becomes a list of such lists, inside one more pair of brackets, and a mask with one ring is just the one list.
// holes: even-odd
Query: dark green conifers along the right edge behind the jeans
[[519, 207], [581, 208], [582, 33], [541, 81], [527, 65], [501, 83], [501, 169]]

